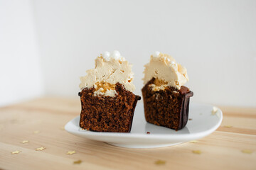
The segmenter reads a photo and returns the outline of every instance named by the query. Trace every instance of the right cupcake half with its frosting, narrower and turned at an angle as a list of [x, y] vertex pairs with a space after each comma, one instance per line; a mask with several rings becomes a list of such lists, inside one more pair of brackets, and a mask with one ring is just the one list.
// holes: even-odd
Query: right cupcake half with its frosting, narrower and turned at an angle
[[148, 123], [181, 130], [188, 122], [189, 99], [186, 68], [170, 55], [155, 52], [145, 65], [144, 113]]

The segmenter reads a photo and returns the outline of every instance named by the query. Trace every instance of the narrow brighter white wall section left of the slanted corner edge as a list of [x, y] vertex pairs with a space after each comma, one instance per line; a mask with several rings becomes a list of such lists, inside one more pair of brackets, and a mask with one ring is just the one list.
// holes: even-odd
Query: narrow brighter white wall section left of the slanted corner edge
[[0, 0], [0, 106], [43, 95], [31, 1]]

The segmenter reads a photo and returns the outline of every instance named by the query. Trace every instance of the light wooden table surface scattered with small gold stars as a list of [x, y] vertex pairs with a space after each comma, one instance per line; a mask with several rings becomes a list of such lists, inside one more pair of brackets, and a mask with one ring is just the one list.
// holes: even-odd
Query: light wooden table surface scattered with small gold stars
[[[6, 106], [0, 108], [0, 169], [256, 169], [256, 108], [220, 108], [220, 128], [196, 143], [127, 149], [63, 130], [80, 114], [79, 98]], [[40, 147], [46, 149], [36, 151]], [[198, 150], [201, 154], [193, 153]], [[21, 152], [11, 154], [15, 151]]]

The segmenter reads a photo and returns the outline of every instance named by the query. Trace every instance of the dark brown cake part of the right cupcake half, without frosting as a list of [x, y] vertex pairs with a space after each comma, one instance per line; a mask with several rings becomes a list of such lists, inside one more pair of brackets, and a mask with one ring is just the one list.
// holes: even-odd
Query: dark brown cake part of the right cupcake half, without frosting
[[154, 78], [151, 79], [142, 89], [146, 121], [174, 130], [184, 128], [193, 92], [186, 86], [181, 86], [180, 90], [166, 86], [164, 90], [153, 91], [149, 85], [155, 82]]

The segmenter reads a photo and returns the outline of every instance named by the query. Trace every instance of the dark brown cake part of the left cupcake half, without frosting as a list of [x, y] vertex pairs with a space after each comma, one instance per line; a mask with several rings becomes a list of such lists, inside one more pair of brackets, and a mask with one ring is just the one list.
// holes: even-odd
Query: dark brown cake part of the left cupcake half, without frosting
[[114, 89], [117, 91], [114, 97], [94, 96], [93, 87], [82, 89], [79, 93], [82, 104], [81, 128], [97, 132], [130, 132], [140, 96], [127, 91], [119, 83], [114, 85]]

